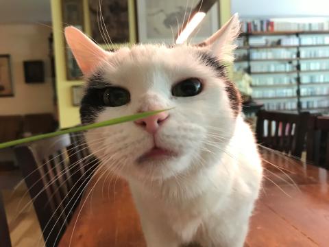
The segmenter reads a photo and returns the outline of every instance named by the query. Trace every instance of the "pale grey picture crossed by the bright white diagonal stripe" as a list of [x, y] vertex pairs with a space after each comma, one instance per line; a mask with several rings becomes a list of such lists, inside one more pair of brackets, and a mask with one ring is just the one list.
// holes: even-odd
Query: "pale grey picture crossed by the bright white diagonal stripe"
[[[177, 0], [138, 0], [137, 23], [138, 41], [140, 43], [175, 43], [178, 30], [182, 27], [197, 1]], [[192, 4], [195, 5], [192, 5]], [[193, 43], [199, 43], [211, 36], [219, 28], [219, 5], [215, 3], [206, 17], [191, 34]]]

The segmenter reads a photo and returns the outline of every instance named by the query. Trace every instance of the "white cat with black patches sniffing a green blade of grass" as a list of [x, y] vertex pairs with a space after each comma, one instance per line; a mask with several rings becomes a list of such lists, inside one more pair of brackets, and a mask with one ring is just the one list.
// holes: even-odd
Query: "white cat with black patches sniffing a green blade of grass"
[[87, 81], [84, 124], [174, 107], [86, 133], [102, 165], [130, 183], [149, 247], [243, 246], [262, 166], [224, 66], [239, 30], [234, 15], [200, 45], [108, 52], [65, 29]]

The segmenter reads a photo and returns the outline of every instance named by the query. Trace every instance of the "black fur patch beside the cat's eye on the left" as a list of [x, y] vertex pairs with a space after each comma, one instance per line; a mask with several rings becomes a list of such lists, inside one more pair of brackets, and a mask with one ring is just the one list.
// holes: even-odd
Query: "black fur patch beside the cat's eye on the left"
[[88, 79], [88, 86], [84, 97], [81, 100], [80, 119], [82, 124], [92, 124], [99, 113], [105, 109], [101, 104], [103, 89], [97, 88], [102, 84], [103, 78], [97, 73]]

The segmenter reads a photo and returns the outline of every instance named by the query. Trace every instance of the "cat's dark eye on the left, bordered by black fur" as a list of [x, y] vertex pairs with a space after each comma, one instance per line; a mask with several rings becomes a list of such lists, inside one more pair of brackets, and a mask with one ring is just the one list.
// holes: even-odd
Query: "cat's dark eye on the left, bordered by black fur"
[[110, 86], [103, 91], [104, 106], [123, 106], [130, 102], [130, 93], [127, 89], [117, 86]]

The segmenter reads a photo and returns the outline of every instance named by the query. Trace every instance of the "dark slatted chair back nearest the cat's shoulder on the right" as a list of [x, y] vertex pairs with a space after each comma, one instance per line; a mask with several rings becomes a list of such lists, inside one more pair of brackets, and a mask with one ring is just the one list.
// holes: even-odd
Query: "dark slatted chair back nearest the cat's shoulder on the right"
[[257, 114], [257, 142], [267, 148], [302, 156], [310, 113], [279, 113], [260, 110]]

